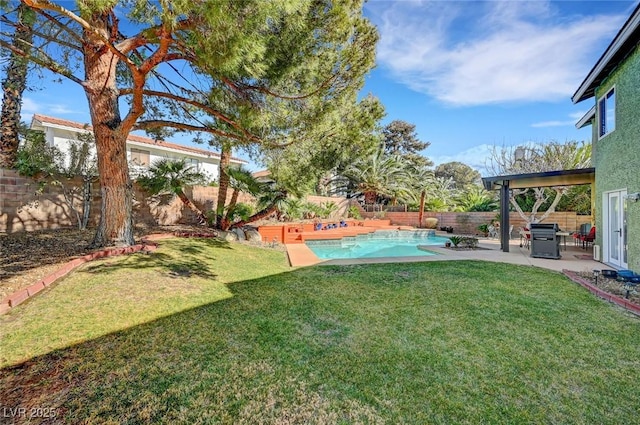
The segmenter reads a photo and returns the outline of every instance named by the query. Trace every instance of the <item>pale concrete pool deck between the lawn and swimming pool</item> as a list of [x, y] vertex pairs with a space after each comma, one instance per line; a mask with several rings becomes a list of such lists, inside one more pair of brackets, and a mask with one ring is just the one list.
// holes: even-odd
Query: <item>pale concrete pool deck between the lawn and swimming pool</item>
[[[446, 234], [438, 232], [438, 236]], [[509, 252], [500, 250], [498, 239], [479, 238], [479, 247], [475, 250], [453, 250], [440, 246], [429, 246], [428, 250], [436, 255], [424, 257], [386, 257], [386, 258], [354, 258], [344, 260], [321, 260], [305, 244], [287, 244], [289, 263], [293, 267], [305, 267], [316, 264], [321, 265], [351, 265], [351, 264], [380, 264], [380, 263], [407, 263], [422, 261], [456, 261], [456, 260], [481, 260], [499, 263], [519, 264], [525, 266], [541, 267], [562, 272], [571, 270], [575, 272], [591, 272], [593, 269], [602, 269], [604, 264], [594, 261], [592, 250], [584, 250], [580, 246], [561, 244], [561, 259], [552, 260], [546, 258], [533, 258], [526, 247], [520, 247], [519, 239], [512, 239], [509, 244]], [[590, 259], [589, 259], [590, 258]]]

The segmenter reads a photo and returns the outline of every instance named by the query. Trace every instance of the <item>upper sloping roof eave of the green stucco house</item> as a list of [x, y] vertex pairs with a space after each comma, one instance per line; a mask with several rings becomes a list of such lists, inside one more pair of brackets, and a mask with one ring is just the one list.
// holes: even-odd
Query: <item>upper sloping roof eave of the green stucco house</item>
[[633, 52], [640, 42], [640, 4], [636, 6], [627, 22], [622, 26], [607, 50], [571, 97], [573, 103], [595, 96], [596, 88], [605, 78]]

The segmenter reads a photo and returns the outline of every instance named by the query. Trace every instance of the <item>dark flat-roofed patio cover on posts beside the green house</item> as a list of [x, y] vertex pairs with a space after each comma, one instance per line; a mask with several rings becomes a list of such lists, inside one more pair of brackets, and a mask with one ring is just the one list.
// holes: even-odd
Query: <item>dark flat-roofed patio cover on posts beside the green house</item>
[[593, 210], [595, 206], [595, 191], [593, 190], [595, 177], [595, 168], [483, 177], [482, 184], [485, 189], [500, 189], [500, 245], [502, 246], [502, 251], [509, 252], [509, 189], [590, 184], [592, 186], [591, 209]]

